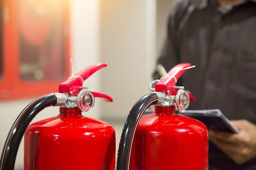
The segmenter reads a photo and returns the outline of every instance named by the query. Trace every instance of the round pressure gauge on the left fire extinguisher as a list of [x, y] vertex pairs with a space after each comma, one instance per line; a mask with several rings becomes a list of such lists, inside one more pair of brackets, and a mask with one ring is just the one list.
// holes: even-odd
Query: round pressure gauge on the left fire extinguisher
[[77, 107], [83, 111], [83, 112], [87, 112], [89, 111], [91, 108], [93, 108], [94, 105], [94, 96], [90, 91], [87, 90], [81, 90], [78, 94], [77, 94], [77, 98], [76, 98], [76, 102], [77, 102]]

